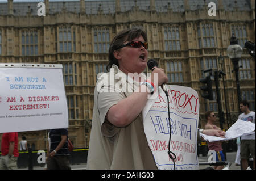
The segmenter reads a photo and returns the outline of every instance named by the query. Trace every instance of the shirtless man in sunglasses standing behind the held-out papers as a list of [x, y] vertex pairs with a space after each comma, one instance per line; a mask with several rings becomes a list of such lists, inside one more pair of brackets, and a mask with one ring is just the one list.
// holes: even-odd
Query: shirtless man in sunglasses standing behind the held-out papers
[[[207, 119], [207, 124], [205, 124], [205, 129], [217, 129], [221, 130], [221, 128], [218, 128], [216, 123], [216, 115], [212, 111], [205, 112], [205, 119]], [[214, 142], [208, 142], [208, 149], [214, 150], [216, 153], [216, 161], [225, 161], [225, 156], [222, 152], [222, 141], [214, 141]], [[214, 166], [214, 170], [221, 170], [224, 166]]]

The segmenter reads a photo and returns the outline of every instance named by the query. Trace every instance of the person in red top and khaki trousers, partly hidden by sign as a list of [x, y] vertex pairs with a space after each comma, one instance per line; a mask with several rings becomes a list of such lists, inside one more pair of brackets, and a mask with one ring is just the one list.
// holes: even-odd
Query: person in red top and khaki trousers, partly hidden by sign
[[18, 169], [18, 133], [3, 133], [1, 141], [0, 170]]

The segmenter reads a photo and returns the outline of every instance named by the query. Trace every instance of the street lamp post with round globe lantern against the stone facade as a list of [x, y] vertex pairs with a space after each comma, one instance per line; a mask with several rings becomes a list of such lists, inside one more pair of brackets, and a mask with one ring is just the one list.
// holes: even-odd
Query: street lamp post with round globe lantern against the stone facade
[[241, 102], [241, 93], [240, 93], [240, 83], [239, 83], [239, 77], [238, 77], [238, 71], [239, 71], [239, 65], [238, 62], [242, 56], [243, 49], [240, 45], [237, 43], [237, 38], [234, 36], [234, 33], [232, 34], [232, 37], [230, 38], [230, 45], [227, 49], [227, 53], [229, 58], [231, 59], [233, 65], [234, 65], [234, 72], [236, 74], [236, 85], [237, 85], [237, 98], [238, 98], [238, 110], [239, 103]]

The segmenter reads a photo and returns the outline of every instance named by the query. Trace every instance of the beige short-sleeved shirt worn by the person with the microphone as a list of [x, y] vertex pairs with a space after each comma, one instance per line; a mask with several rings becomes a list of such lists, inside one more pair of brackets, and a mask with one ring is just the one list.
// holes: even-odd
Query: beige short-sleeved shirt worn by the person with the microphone
[[[113, 65], [112, 68], [115, 74], [121, 73], [126, 76], [117, 66]], [[107, 75], [109, 78], [110, 73]], [[97, 81], [87, 169], [157, 169], [147, 144], [141, 113], [131, 124], [123, 128], [117, 128], [105, 120], [109, 108], [132, 92], [123, 91], [122, 88], [115, 92], [100, 91], [104, 89], [113, 89], [113, 86], [108, 82]]]

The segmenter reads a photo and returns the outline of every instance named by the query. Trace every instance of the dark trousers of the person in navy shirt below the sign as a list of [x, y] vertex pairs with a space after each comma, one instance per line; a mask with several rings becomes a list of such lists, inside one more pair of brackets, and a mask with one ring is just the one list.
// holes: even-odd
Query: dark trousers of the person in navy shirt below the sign
[[47, 170], [71, 170], [68, 155], [57, 155], [47, 158]]

